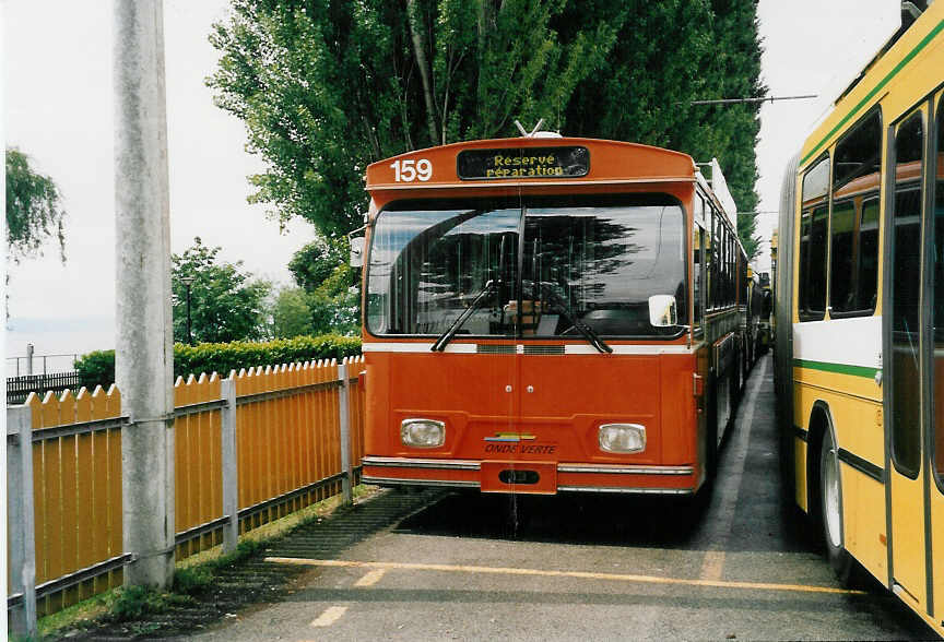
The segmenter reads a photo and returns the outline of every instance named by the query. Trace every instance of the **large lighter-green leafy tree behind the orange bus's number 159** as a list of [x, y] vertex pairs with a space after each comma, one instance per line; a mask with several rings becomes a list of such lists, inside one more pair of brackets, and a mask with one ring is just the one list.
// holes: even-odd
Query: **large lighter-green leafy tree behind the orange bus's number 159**
[[409, 150], [514, 133], [558, 118], [603, 61], [615, 29], [566, 45], [551, 28], [563, 0], [233, 0], [214, 25], [208, 79], [268, 164], [251, 199], [324, 237], [366, 209], [368, 163]]

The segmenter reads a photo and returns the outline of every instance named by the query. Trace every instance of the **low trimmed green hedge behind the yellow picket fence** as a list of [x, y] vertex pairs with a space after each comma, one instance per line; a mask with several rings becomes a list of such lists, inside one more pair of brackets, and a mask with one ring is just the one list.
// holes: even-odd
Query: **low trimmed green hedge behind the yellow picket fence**
[[[234, 341], [233, 343], [201, 343], [174, 345], [174, 379], [201, 372], [217, 372], [228, 377], [231, 370], [255, 366], [276, 366], [317, 359], [338, 359], [361, 354], [361, 338], [356, 336], [296, 336], [264, 343]], [[107, 388], [115, 381], [115, 350], [95, 350], [75, 362], [85, 388]]]

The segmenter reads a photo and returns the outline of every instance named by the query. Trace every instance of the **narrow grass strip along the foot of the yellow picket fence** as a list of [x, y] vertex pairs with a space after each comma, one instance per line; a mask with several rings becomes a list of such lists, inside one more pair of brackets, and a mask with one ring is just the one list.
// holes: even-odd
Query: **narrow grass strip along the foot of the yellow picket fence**
[[[356, 486], [353, 489], [354, 499], [369, 497], [378, 490], [370, 486]], [[173, 606], [191, 603], [194, 595], [212, 587], [220, 569], [252, 557], [267, 544], [287, 535], [295, 528], [327, 518], [341, 508], [341, 497], [335, 495], [255, 528], [240, 537], [236, 550], [232, 554], [223, 555], [223, 547], [215, 546], [177, 562], [169, 591], [158, 591], [150, 586], [121, 586], [40, 618], [39, 638], [60, 638], [71, 629], [87, 627], [95, 621], [134, 621], [166, 613]], [[145, 630], [149, 626], [152, 625], [143, 622], [141, 625], [143, 629], [132, 628], [134, 633], [145, 635], [152, 632]]]

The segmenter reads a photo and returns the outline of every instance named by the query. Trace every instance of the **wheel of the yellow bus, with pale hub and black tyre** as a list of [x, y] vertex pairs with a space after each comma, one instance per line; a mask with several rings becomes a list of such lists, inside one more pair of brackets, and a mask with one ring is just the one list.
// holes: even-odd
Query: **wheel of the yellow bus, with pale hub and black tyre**
[[842, 502], [839, 488], [839, 457], [833, 432], [827, 427], [823, 431], [819, 447], [819, 510], [823, 525], [823, 542], [826, 556], [843, 586], [858, 584], [858, 563], [842, 546]]

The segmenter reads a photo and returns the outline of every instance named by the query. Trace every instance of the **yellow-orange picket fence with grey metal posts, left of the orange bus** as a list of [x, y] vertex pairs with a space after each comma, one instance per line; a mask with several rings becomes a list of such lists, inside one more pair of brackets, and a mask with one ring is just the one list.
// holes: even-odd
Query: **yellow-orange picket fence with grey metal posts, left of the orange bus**
[[[343, 492], [359, 475], [363, 357], [180, 379], [175, 405], [176, 556]], [[120, 585], [121, 415], [116, 387], [35, 394], [7, 411], [8, 609], [36, 617]]]

